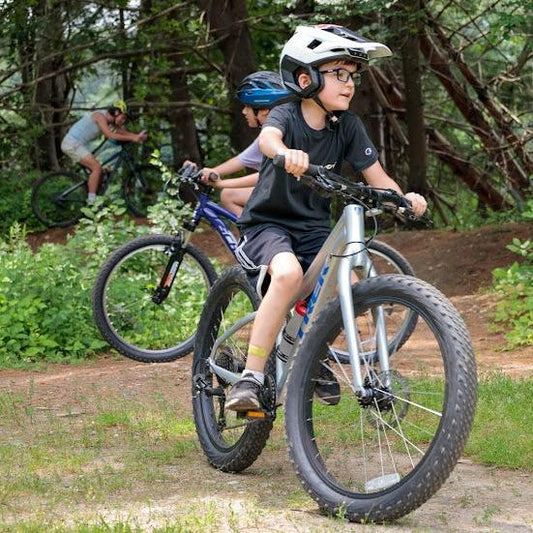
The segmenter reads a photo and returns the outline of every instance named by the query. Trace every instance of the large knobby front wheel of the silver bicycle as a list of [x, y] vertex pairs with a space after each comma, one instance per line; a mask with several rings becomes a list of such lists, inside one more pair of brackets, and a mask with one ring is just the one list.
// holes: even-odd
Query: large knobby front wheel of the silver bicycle
[[[297, 474], [323, 510], [382, 522], [419, 507], [454, 468], [474, 418], [476, 365], [461, 317], [427, 283], [379, 276], [353, 293], [360, 344], [375, 344], [374, 317], [391, 303], [418, 315], [416, 329], [391, 354], [390, 368], [362, 365], [366, 394], [358, 397], [351, 366], [329, 358], [332, 349], [346, 349], [340, 305], [332, 302], [294, 360], [286, 430]], [[394, 330], [397, 318], [385, 314], [386, 326]], [[328, 360], [340, 385], [336, 405], [314, 397]]]

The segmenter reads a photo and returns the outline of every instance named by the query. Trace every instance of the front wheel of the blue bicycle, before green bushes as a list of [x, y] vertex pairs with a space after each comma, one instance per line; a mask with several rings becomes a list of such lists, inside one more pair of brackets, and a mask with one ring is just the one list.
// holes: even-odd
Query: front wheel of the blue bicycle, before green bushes
[[147, 235], [120, 246], [100, 269], [93, 314], [102, 336], [121, 354], [163, 363], [191, 352], [198, 319], [217, 274], [203, 253], [186, 246], [174, 283], [157, 303], [156, 289], [181, 240]]

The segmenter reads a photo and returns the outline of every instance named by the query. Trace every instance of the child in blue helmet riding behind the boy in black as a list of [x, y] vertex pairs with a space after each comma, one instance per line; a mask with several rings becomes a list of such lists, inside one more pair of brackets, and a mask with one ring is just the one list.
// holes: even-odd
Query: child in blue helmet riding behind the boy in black
[[[294, 96], [283, 87], [279, 74], [265, 70], [246, 76], [237, 88], [237, 98], [244, 104], [242, 114], [248, 126], [260, 128], [274, 106], [292, 100]], [[259, 150], [259, 139], [257, 138], [237, 156], [214, 168], [203, 168], [203, 181], [221, 189], [220, 203], [228, 211], [240, 216], [257, 183], [259, 174], [255, 172], [241, 178], [226, 180], [219, 178], [245, 168], [259, 170], [262, 160], [263, 154]], [[214, 180], [213, 177], [215, 177]]]

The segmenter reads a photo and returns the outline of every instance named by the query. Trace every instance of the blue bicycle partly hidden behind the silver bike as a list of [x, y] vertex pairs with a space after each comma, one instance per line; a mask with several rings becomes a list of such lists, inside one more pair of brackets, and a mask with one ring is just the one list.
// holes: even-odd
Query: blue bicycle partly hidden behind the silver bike
[[[198, 321], [217, 273], [206, 255], [190, 244], [202, 220], [232, 254], [237, 217], [211, 200], [213, 188], [193, 166], [177, 178], [192, 197], [190, 220], [176, 235], [145, 235], [117, 248], [102, 265], [93, 289], [93, 314], [102, 336], [121, 354], [140, 362], [169, 362], [190, 353]], [[414, 275], [409, 262], [387, 244], [367, 243], [380, 273]], [[416, 317], [410, 317], [406, 330]]]

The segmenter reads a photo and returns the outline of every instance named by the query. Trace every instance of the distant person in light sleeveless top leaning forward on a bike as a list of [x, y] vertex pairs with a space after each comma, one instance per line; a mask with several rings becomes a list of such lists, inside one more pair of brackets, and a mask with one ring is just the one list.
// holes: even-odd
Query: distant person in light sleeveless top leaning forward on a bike
[[90, 144], [104, 135], [107, 139], [141, 143], [147, 138], [146, 132], [132, 133], [122, 128], [128, 118], [128, 108], [124, 100], [117, 100], [107, 111], [88, 113], [78, 120], [67, 132], [61, 142], [61, 150], [75, 163], [87, 167], [91, 173], [87, 182], [87, 201], [92, 203], [96, 197], [102, 178], [102, 165], [92, 154]]

